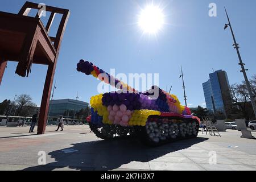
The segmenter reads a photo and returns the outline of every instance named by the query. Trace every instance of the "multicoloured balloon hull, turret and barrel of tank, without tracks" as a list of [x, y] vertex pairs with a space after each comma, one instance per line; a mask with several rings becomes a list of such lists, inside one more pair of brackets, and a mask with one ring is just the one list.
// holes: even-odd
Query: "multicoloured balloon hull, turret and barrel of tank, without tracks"
[[150, 115], [161, 115], [161, 112], [182, 114], [184, 117], [191, 115], [189, 108], [182, 106], [175, 95], [165, 92], [158, 86], [152, 86], [146, 92], [138, 93], [129, 85], [84, 60], [80, 60], [77, 64], [77, 71], [93, 75], [106, 84], [121, 89], [118, 92], [99, 94], [91, 98], [92, 117], [90, 121], [96, 125], [100, 126], [104, 123], [145, 126]]

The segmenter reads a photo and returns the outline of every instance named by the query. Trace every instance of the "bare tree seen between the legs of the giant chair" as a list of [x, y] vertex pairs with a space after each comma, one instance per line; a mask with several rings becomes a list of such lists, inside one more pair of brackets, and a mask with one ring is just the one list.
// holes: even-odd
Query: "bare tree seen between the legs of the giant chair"
[[31, 110], [36, 107], [32, 102], [32, 98], [27, 94], [20, 95], [16, 100], [17, 115], [27, 116], [31, 114]]

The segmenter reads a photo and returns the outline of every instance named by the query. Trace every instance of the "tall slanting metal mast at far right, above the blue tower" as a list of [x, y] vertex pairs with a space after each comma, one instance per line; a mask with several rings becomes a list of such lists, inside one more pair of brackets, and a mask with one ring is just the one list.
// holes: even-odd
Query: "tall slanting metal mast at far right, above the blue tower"
[[[225, 7], [225, 11], [226, 11], [226, 7]], [[232, 33], [232, 36], [233, 36], [233, 40], [234, 40], [234, 48], [237, 50], [237, 55], [238, 55], [238, 59], [239, 59], [239, 65], [241, 66], [242, 70], [240, 71], [241, 73], [243, 73], [243, 77], [245, 78], [245, 83], [246, 83], [246, 86], [247, 86], [247, 89], [248, 89], [248, 92], [249, 92], [249, 95], [250, 95], [250, 100], [251, 100], [251, 105], [253, 106], [253, 111], [254, 111], [254, 115], [256, 117], [256, 104], [255, 104], [255, 98], [253, 96], [253, 92], [251, 92], [251, 85], [250, 85], [250, 82], [248, 80], [248, 77], [246, 75], [246, 71], [248, 71], [248, 69], [245, 69], [245, 64], [243, 63], [242, 61], [242, 58], [241, 58], [241, 55], [240, 55], [240, 52], [239, 52], [239, 44], [237, 44], [236, 42], [236, 38], [234, 36], [234, 32], [233, 32], [233, 29], [232, 29], [232, 26], [231, 26], [231, 23], [230, 23], [230, 20], [229, 20], [229, 15], [226, 11], [226, 17], [228, 18], [228, 21], [229, 21], [229, 24], [225, 24], [225, 28], [224, 30], [229, 26], [230, 27], [230, 30], [231, 30], [231, 33]]]

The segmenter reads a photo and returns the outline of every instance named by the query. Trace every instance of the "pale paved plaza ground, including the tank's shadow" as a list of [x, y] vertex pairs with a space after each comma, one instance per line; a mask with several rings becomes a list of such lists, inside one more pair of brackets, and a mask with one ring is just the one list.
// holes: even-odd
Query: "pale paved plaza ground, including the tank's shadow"
[[[240, 138], [237, 130], [221, 132], [222, 137], [200, 132], [195, 139], [155, 148], [134, 140], [100, 140], [86, 125], [59, 132], [47, 126], [46, 135], [28, 130], [0, 127], [0, 170], [256, 170], [256, 140]], [[39, 151], [46, 152], [46, 165], [39, 165]]]

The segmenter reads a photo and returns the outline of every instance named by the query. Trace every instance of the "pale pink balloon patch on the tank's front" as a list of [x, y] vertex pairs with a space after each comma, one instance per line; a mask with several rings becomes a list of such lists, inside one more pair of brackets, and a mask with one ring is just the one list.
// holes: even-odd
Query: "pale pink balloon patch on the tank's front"
[[128, 121], [131, 118], [133, 111], [127, 110], [126, 105], [121, 106], [114, 105], [108, 106], [109, 111], [109, 121], [112, 121], [114, 125], [128, 126]]

